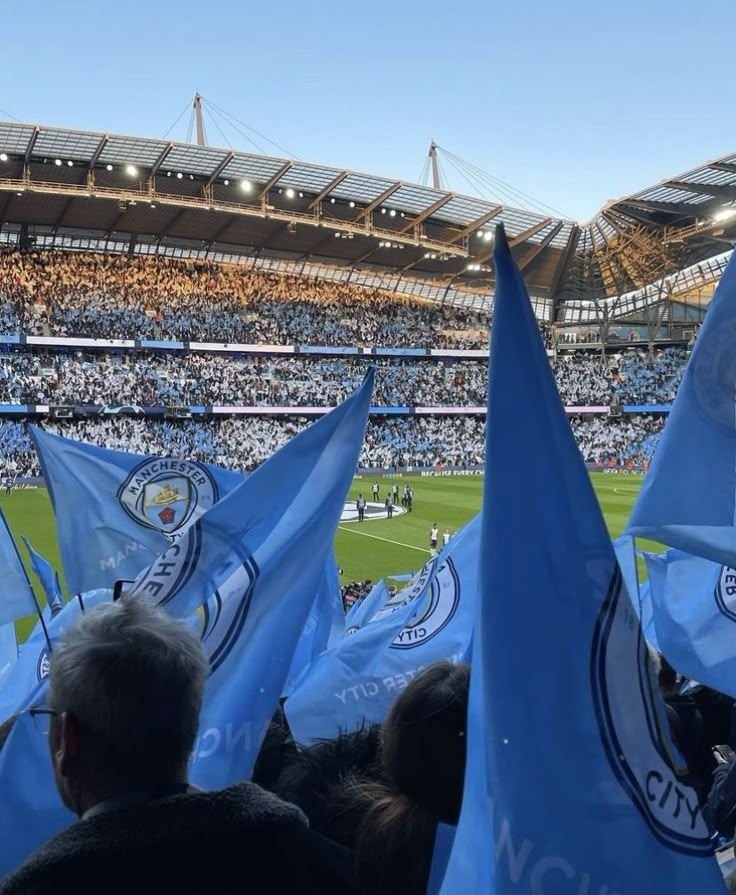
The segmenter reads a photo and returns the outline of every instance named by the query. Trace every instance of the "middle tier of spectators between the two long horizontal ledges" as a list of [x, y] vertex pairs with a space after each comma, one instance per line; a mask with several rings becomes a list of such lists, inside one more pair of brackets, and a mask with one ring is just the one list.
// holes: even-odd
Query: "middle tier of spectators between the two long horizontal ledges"
[[[662, 404], [674, 399], [686, 353], [630, 351], [602, 358], [575, 353], [554, 362], [569, 406]], [[482, 360], [207, 353], [13, 350], [0, 355], [0, 403], [335, 406], [376, 367], [374, 405], [483, 406]]]

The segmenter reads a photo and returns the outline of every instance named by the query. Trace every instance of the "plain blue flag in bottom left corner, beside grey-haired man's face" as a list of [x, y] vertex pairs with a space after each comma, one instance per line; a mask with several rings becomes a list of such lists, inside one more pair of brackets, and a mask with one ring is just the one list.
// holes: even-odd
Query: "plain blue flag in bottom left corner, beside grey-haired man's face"
[[0, 877], [76, 819], [56, 790], [48, 737], [22, 714], [0, 749]]

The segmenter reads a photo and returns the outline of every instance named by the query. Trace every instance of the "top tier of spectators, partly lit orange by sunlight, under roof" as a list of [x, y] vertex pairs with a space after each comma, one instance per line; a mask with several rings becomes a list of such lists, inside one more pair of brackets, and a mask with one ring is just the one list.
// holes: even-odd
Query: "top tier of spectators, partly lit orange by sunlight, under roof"
[[226, 343], [479, 348], [485, 314], [244, 265], [0, 252], [5, 332]]

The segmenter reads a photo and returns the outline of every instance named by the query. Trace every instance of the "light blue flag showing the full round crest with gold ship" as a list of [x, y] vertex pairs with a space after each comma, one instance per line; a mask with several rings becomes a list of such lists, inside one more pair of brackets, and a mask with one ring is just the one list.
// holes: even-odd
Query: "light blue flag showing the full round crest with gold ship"
[[36, 426], [31, 434], [72, 594], [134, 579], [243, 481], [207, 463], [110, 451]]

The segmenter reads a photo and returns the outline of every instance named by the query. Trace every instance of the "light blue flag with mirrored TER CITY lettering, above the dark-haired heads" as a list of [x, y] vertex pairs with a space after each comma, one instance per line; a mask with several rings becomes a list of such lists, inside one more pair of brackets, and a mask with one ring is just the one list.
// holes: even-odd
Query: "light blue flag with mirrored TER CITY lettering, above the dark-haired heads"
[[479, 543], [477, 517], [372, 620], [319, 657], [286, 701], [298, 743], [383, 721], [423, 668], [462, 661], [475, 617]]

